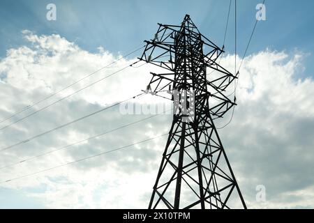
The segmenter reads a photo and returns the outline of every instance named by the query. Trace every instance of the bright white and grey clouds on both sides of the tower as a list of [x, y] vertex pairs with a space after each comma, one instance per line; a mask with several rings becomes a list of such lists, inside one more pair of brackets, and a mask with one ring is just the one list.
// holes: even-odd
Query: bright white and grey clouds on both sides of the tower
[[[98, 53], [91, 54], [59, 35], [38, 36], [31, 31], [23, 31], [23, 34], [30, 44], [9, 49], [0, 62], [1, 117], [45, 98], [119, 58], [101, 47]], [[237, 89], [239, 105], [234, 118], [230, 125], [219, 131], [250, 208], [308, 207], [314, 202], [311, 174], [314, 168], [314, 105], [311, 98], [314, 82], [311, 78], [300, 79], [298, 76], [299, 70], [304, 69], [303, 56], [301, 53], [290, 56], [268, 49], [248, 56], [241, 70]], [[121, 59], [112, 68], [98, 72], [61, 95], [68, 95], [134, 61]], [[222, 59], [223, 65], [230, 70], [234, 66], [233, 61], [232, 55]], [[3, 130], [1, 148], [94, 112], [105, 104], [140, 93], [149, 82], [149, 71], [156, 72], [156, 68], [127, 68], [119, 75]], [[34, 111], [54, 100], [56, 98], [51, 98], [30, 110]], [[139, 99], [138, 102], [143, 101], [149, 102], [151, 98]], [[1, 152], [0, 163], [3, 166], [11, 164], [140, 118], [142, 116], [121, 115], [119, 108], [113, 108]], [[226, 123], [228, 118], [223, 118], [217, 126]], [[0, 181], [165, 133], [170, 121], [171, 116], [151, 118], [134, 128], [119, 130], [9, 169], [0, 169]], [[23, 190], [29, 199], [40, 199], [47, 208], [147, 208], [163, 146], [165, 137], [13, 180], [0, 187]], [[255, 201], [255, 187], [260, 184], [265, 185], [267, 190], [265, 203]], [[306, 197], [305, 194], [311, 196]]]

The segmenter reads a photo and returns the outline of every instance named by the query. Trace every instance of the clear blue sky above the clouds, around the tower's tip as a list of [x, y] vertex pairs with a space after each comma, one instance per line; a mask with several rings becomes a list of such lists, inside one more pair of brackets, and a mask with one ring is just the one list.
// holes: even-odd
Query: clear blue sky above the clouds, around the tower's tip
[[[239, 0], [238, 5], [238, 49], [243, 54], [255, 20], [255, 6], [260, 0]], [[57, 6], [57, 21], [47, 21], [47, 3]], [[59, 33], [67, 40], [90, 52], [103, 46], [112, 53], [126, 52], [151, 38], [157, 22], [179, 24], [186, 13], [197, 24], [205, 36], [218, 45], [223, 43], [223, 34], [229, 0], [223, 1], [1, 1], [0, 8], [0, 56], [10, 47], [22, 43], [23, 29], [38, 35]], [[314, 50], [313, 26], [314, 2], [302, 0], [266, 1], [267, 21], [260, 22], [248, 54], [266, 47], [278, 51], [295, 50], [311, 53]], [[226, 51], [234, 49], [234, 14], [230, 15], [230, 26], [225, 44]], [[308, 74], [313, 73], [313, 55], [306, 57]]]

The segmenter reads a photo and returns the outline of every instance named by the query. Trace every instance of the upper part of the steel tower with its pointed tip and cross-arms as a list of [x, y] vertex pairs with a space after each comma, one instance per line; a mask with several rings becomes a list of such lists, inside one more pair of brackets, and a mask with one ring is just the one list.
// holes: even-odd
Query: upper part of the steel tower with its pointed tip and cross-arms
[[203, 36], [189, 15], [181, 25], [158, 25], [154, 38], [144, 41], [147, 45], [139, 59], [167, 72], [151, 72], [148, 89], [168, 99], [172, 96], [165, 90], [197, 91], [209, 98], [211, 115], [222, 118], [236, 105], [235, 98], [230, 100], [226, 92], [237, 78], [217, 62], [223, 49]]

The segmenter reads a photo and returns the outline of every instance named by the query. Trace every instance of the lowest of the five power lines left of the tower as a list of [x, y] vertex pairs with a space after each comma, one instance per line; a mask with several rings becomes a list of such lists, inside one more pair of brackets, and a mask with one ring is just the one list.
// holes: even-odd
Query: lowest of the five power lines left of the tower
[[91, 156], [88, 156], [88, 157], [83, 157], [82, 159], [79, 159], [79, 160], [74, 160], [74, 161], [72, 161], [72, 162], [66, 162], [66, 163], [64, 163], [64, 164], [61, 164], [61, 165], [58, 165], [58, 166], [55, 166], [55, 167], [50, 167], [50, 168], [47, 168], [47, 169], [43, 169], [43, 170], [40, 170], [40, 171], [36, 171], [36, 172], [31, 173], [31, 174], [26, 174], [26, 175], [18, 176], [18, 177], [16, 177], [16, 178], [11, 178], [11, 179], [9, 179], [9, 180], [4, 180], [4, 181], [0, 182], [0, 184], [2, 184], [2, 183], [8, 183], [8, 182], [10, 182], [10, 181], [17, 180], [17, 179], [20, 179], [20, 178], [25, 178], [25, 177], [28, 177], [28, 176], [33, 176], [33, 175], [35, 175], [35, 174], [40, 174], [40, 173], [43, 173], [43, 172], [45, 172], [45, 171], [50, 171], [50, 170], [52, 170], [52, 169], [57, 169], [57, 168], [59, 168], [59, 167], [68, 166], [68, 165], [70, 165], [70, 164], [75, 164], [75, 163], [77, 163], [77, 162], [82, 162], [82, 161], [84, 161], [84, 160], [89, 160], [89, 159], [91, 159], [91, 158], [98, 157], [98, 156], [100, 156], [100, 155], [105, 155], [105, 154], [107, 154], [107, 153], [112, 153], [112, 152], [115, 152], [115, 151], [119, 151], [119, 150], [122, 150], [122, 149], [124, 149], [124, 148], [128, 148], [128, 147], [130, 147], [130, 146], [135, 146], [135, 145], [137, 145], [137, 144], [142, 144], [142, 143], [144, 143], [144, 142], [146, 142], [146, 141], [151, 141], [151, 140], [153, 140], [153, 139], [157, 139], [157, 138], [163, 137], [163, 136], [165, 136], [165, 135], [167, 135], [167, 133], [158, 135], [157, 137], [145, 139], [145, 140], [143, 140], [143, 141], [138, 141], [138, 142], [136, 142], [136, 143], [129, 144], [129, 145], [127, 145], [127, 146], [121, 146], [121, 147], [119, 147], [119, 148], [114, 148], [114, 149], [112, 149], [112, 150], [110, 150], [110, 151], [104, 151], [104, 152], [102, 152], [102, 153], [97, 153], [97, 154], [95, 154], [95, 155], [91, 155]]

